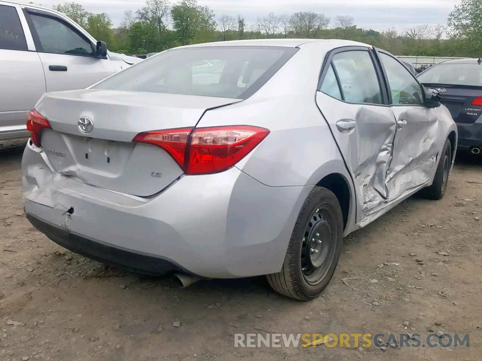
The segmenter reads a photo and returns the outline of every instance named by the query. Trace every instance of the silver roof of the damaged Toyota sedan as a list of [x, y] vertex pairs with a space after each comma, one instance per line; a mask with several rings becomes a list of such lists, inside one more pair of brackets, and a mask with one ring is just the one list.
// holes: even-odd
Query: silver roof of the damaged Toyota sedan
[[337, 48], [340, 46], [366, 46], [371, 45], [364, 44], [358, 41], [343, 40], [343, 39], [246, 39], [246, 40], [228, 40], [228, 41], [214, 41], [209, 43], [184, 45], [177, 47], [180, 48], [198, 48], [205, 46], [280, 46], [288, 48], [296, 48], [306, 43], [321, 43], [323, 46], [331, 46]]

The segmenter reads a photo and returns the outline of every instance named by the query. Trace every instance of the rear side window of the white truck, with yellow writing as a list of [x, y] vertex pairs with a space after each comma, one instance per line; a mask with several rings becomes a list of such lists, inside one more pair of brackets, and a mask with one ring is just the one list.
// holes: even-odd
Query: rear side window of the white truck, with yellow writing
[[28, 50], [17, 9], [13, 6], [0, 5], [0, 49]]

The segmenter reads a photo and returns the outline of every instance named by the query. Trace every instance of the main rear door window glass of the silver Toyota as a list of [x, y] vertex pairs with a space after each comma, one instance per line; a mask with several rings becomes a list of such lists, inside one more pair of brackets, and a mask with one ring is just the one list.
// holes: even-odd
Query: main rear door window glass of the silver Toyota
[[383, 103], [378, 77], [368, 51], [339, 52], [333, 56], [332, 64], [346, 102]]

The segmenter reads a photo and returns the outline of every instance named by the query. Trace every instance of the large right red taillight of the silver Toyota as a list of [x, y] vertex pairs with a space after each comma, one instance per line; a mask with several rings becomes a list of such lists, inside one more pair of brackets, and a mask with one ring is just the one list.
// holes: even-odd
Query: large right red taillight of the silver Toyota
[[251, 126], [181, 128], [139, 133], [133, 142], [164, 149], [185, 174], [217, 173], [231, 168], [251, 152], [269, 130]]

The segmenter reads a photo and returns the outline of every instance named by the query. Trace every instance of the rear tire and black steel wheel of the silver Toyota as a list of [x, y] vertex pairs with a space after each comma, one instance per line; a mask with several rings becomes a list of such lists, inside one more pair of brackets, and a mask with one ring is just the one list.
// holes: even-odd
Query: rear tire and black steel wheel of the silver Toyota
[[267, 275], [269, 285], [296, 300], [318, 297], [333, 278], [342, 244], [343, 214], [338, 199], [330, 190], [316, 186], [298, 215], [281, 272]]

